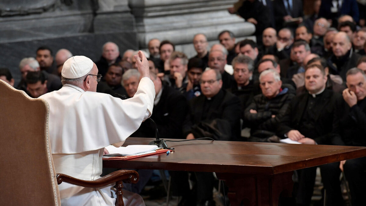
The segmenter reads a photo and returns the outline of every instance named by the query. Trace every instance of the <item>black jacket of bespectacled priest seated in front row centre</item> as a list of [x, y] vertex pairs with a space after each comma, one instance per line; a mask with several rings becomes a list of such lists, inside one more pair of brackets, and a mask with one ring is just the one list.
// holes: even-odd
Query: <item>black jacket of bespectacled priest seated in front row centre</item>
[[[187, 116], [183, 126], [183, 133], [187, 136], [189, 133], [193, 133], [195, 138], [204, 137], [199, 136], [196, 133], [197, 128], [201, 128], [208, 125], [214, 125], [217, 123], [216, 128], [220, 130], [220, 127], [224, 129], [222, 138], [219, 140], [238, 140], [240, 137], [240, 100], [237, 96], [223, 89], [217, 93], [212, 99], [212, 105], [206, 115], [203, 118], [203, 107], [206, 101], [206, 96], [200, 95], [190, 100], [190, 112]], [[209, 127], [207, 127], [209, 129]], [[221, 130], [223, 131], [223, 130]], [[212, 129], [206, 130], [206, 136], [214, 137]], [[210, 134], [209, 134], [210, 133]], [[220, 137], [219, 137], [220, 138]]]

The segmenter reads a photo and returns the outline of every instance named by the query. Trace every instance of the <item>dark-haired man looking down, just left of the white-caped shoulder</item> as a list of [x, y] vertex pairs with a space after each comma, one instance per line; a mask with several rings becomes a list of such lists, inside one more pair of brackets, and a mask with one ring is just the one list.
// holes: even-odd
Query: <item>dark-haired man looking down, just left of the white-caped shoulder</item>
[[33, 98], [38, 98], [45, 93], [55, 91], [51, 87], [48, 87], [48, 74], [44, 71], [28, 72], [25, 82], [27, 83], [27, 92]]

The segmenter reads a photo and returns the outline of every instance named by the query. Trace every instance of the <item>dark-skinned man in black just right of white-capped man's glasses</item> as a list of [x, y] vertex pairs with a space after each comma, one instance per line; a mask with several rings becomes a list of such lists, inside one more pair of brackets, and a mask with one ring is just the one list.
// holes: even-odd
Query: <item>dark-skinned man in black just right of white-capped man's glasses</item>
[[107, 73], [105, 74], [105, 82], [99, 82], [97, 86], [97, 92], [107, 93], [115, 96], [115, 93], [120, 95], [127, 95], [126, 89], [122, 87], [122, 67], [114, 63], [109, 66]]

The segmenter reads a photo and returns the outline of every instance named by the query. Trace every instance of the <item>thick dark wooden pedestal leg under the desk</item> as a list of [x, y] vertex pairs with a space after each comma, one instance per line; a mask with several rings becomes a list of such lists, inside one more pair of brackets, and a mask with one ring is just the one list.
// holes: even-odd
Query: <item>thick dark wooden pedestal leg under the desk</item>
[[[231, 206], [277, 206], [280, 195], [290, 197], [293, 172], [274, 175], [216, 173], [229, 187]], [[282, 192], [282, 193], [281, 193]]]

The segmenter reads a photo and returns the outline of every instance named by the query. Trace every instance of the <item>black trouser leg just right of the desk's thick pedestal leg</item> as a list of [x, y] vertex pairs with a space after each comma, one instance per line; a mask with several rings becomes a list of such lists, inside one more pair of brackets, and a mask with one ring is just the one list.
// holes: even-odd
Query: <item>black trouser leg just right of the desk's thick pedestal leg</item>
[[300, 169], [297, 172], [299, 175], [299, 188], [296, 194], [296, 204], [310, 205], [317, 167]]

